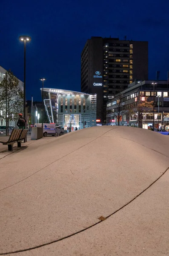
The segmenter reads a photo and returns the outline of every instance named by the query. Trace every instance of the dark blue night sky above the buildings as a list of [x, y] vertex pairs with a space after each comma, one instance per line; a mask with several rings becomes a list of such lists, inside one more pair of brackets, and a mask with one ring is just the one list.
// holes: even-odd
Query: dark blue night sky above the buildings
[[44, 87], [80, 91], [80, 53], [91, 36], [149, 41], [149, 79], [167, 79], [169, 70], [169, 1], [160, 0], [6, 0], [0, 3], [0, 66], [23, 80], [26, 98], [40, 100]]

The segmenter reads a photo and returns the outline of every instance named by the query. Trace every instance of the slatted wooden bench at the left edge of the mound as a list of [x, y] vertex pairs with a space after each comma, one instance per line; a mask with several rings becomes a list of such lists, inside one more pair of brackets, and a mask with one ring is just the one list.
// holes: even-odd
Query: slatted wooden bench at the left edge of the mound
[[21, 147], [21, 141], [26, 137], [28, 130], [26, 129], [13, 129], [8, 141], [0, 141], [3, 145], [8, 145], [8, 151], [13, 151], [13, 145], [17, 142], [17, 146]]

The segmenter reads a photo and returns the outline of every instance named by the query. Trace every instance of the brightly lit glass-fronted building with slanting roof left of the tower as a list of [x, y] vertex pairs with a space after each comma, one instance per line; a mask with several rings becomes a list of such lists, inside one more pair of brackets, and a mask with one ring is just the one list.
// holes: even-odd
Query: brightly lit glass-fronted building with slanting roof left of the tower
[[96, 94], [43, 88], [43, 99], [49, 123], [82, 129], [84, 120], [86, 128], [96, 126]]

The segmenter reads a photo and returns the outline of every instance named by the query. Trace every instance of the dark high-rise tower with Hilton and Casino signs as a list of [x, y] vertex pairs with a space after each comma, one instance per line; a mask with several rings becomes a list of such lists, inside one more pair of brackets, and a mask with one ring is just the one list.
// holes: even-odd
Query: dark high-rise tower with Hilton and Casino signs
[[97, 94], [97, 119], [106, 102], [135, 80], [148, 79], [148, 42], [92, 37], [81, 53], [81, 91]]

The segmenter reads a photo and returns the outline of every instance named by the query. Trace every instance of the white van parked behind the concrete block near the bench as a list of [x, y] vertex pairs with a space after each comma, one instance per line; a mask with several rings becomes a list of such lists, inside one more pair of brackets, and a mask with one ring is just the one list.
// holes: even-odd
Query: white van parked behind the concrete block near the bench
[[[42, 124], [34, 124], [34, 127], [42, 127]], [[56, 136], [63, 135], [64, 131], [57, 124], [43, 124], [43, 136], [46, 137], [48, 135]]]

